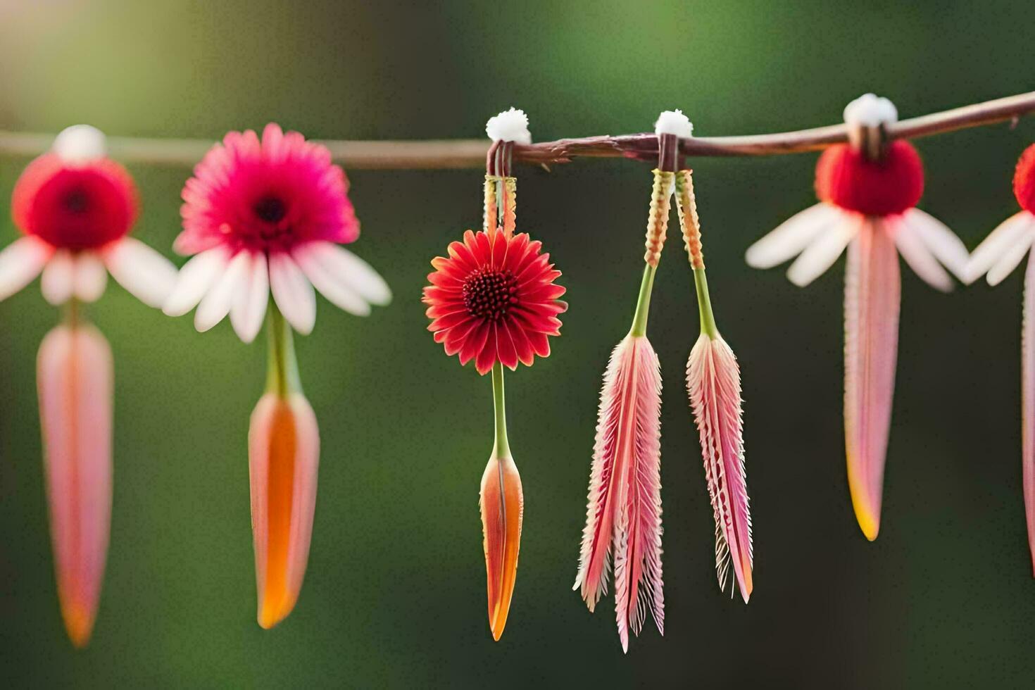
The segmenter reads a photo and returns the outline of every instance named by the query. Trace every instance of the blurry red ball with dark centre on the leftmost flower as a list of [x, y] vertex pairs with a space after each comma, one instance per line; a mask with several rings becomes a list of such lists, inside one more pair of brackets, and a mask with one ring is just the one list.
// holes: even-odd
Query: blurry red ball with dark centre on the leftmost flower
[[108, 158], [72, 166], [54, 153], [29, 163], [11, 199], [23, 233], [67, 249], [92, 249], [124, 236], [137, 207], [137, 186], [122, 166]]

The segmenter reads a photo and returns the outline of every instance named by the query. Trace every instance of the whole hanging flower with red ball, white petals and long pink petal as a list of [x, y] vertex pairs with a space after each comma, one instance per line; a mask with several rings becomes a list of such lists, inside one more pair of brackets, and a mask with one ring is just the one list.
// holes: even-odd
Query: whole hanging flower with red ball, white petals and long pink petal
[[[897, 119], [886, 98], [849, 103], [845, 121], [870, 144]], [[845, 432], [849, 488], [867, 539], [880, 528], [884, 460], [898, 341], [897, 254], [931, 287], [949, 291], [947, 267], [962, 276], [967, 249], [943, 223], [915, 208], [923, 166], [911, 144], [889, 142], [871, 159], [865, 146], [828, 148], [816, 168], [820, 203], [793, 216], [747, 250], [748, 265], [770, 268], [795, 256], [788, 278], [803, 287], [848, 247], [845, 283]]]

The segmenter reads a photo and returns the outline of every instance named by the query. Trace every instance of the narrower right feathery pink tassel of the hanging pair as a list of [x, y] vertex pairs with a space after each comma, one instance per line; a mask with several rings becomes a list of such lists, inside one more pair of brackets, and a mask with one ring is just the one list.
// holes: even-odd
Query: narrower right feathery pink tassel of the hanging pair
[[[715, 516], [715, 570], [726, 590], [730, 562], [740, 595], [751, 595], [751, 515], [744, 472], [744, 431], [740, 400], [740, 367], [719, 336], [702, 333], [686, 364], [686, 388], [698, 423], [705, 480]], [[730, 590], [733, 594], [733, 588]]]

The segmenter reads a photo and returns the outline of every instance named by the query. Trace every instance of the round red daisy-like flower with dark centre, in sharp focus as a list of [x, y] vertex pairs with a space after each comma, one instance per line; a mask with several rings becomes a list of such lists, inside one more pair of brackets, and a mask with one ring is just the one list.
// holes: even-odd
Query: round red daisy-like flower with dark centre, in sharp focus
[[541, 248], [526, 233], [469, 230], [449, 245], [448, 258], [432, 261], [427, 330], [447, 355], [459, 353], [461, 364], [474, 359], [481, 374], [496, 362], [515, 369], [519, 361], [531, 366], [535, 355], [550, 355], [546, 336], [561, 334], [557, 314], [568, 305], [557, 299], [565, 292], [554, 283], [561, 272]]

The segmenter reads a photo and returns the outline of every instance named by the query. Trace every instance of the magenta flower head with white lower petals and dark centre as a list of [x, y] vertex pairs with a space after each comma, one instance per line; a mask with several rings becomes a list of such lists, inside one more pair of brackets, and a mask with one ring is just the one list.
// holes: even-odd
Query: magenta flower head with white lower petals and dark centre
[[165, 304], [169, 316], [198, 306], [206, 331], [230, 314], [237, 335], [255, 339], [269, 293], [300, 333], [316, 321], [316, 287], [357, 316], [391, 300], [365, 262], [338, 246], [359, 236], [348, 180], [326, 147], [268, 124], [228, 133], [183, 188], [183, 232], [173, 248], [195, 254]]

